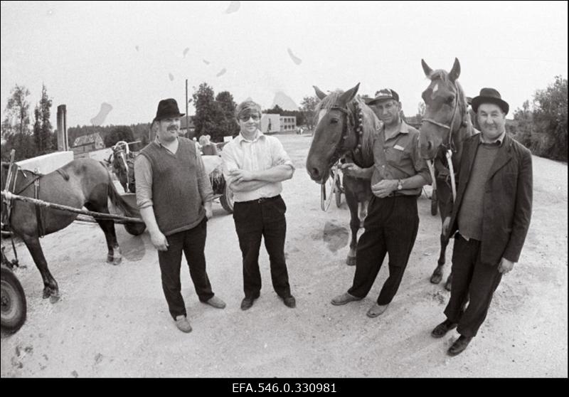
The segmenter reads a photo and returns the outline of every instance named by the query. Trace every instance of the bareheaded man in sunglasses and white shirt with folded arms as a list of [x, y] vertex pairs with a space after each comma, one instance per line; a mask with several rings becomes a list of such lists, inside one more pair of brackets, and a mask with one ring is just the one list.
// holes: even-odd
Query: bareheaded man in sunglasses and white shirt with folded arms
[[285, 236], [287, 206], [282, 200], [282, 181], [292, 178], [294, 165], [279, 139], [260, 131], [261, 107], [251, 100], [235, 109], [240, 133], [223, 147], [223, 174], [233, 190], [233, 220], [243, 254], [241, 309], [247, 310], [260, 296], [259, 249], [261, 238], [269, 254], [272, 286], [287, 307], [295, 307], [290, 293]]

